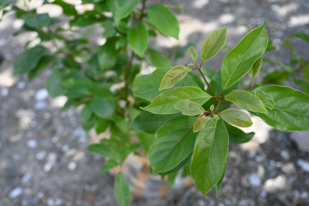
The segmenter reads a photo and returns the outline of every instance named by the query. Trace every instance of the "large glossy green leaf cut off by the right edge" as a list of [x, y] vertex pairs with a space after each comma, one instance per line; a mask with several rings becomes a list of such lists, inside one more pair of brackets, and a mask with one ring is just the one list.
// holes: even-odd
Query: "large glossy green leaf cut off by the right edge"
[[251, 112], [266, 124], [282, 132], [309, 130], [309, 96], [288, 86], [266, 85], [256, 88], [273, 97], [272, 110], [265, 114]]

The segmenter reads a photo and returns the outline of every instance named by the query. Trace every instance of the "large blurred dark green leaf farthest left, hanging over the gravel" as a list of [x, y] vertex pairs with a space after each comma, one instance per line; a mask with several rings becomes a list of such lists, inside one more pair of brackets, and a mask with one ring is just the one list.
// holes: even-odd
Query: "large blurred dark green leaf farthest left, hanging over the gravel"
[[44, 47], [36, 46], [20, 54], [15, 61], [14, 75], [25, 74], [35, 69], [39, 64], [44, 51]]

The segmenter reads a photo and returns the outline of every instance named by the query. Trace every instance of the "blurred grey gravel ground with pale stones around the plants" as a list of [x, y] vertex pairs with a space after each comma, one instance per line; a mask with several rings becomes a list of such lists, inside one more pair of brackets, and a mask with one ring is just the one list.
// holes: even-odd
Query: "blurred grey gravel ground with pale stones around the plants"
[[[155, 1], [153, 1], [155, 2]], [[289, 53], [280, 47], [284, 37], [295, 32], [309, 33], [309, 2], [306, 0], [195, 0], [165, 1], [183, 7], [180, 40], [157, 38], [153, 47], [170, 49], [197, 40], [200, 46], [214, 29], [229, 27], [227, 45], [234, 47], [247, 32], [265, 19], [269, 38], [277, 51], [273, 60], [287, 60]], [[86, 151], [92, 141], [78, 116], [80, 108], [60, 113], [64, 97], [53, 99], [44, 89], [50, 71], [28, 82], [27, 76], [12, 76], [14, 61], [31, 34], [13, 37], [20, 26], [13, 15], [0, 22], [0, 205], [73, 206], [117, 205], [110, 174], [99, 175], [104, 159]], [[292, 40], [304, 57], [308, 44]], [[226, 52], [208, 62], [218, 69]], [[184, 65], [190, 57], [177, 60]], [[265, 66], [265, 65], [264, 65]], [[265, 68], [266, 69], [266, 68]], [[267, 68], [272, 70], [273, 67]], [[298, 151], [290, 133], [277, 132], [252, 117], [254, 139], [229, 147], [228, 168], [218, 198], [214, 190], [206, 199], [192, 186], [162, 198], [133, 200], [132, 206], [308, 206], [309, 155]]]

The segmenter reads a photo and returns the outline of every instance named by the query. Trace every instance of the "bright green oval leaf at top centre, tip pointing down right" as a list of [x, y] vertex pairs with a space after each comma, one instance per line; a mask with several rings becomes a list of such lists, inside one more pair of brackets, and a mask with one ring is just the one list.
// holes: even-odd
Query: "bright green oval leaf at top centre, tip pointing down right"
[[178, 39], [179, 23], [167, 6], [151, 5], [148, 9], [148, 18], [162, 34]]

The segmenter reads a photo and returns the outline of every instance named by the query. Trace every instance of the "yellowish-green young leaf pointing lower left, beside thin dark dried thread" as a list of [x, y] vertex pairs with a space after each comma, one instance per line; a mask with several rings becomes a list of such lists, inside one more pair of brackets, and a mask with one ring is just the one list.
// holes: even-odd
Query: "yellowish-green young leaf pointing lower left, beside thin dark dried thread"
[[191, 72], [191, 69], [186, 66], [175, 66], [171, 68], [163, 77], [159, 91], [172, 88], [177, 82], [182, 80]]

